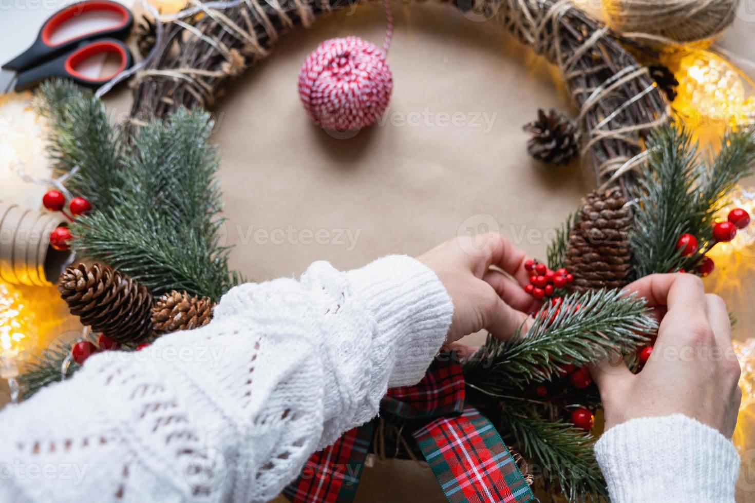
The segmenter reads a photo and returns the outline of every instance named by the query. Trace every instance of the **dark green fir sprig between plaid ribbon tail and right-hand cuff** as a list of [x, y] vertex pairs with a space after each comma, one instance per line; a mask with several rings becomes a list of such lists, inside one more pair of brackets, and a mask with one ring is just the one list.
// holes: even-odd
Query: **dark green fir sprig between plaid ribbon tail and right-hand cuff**
[[549, 486], [557, 484], [569, 501], [608, 496], [590, 434], [566, 422], [544, 419], [532, 408], [504, 406], [501, 419], [529, 465], [538, 467]]

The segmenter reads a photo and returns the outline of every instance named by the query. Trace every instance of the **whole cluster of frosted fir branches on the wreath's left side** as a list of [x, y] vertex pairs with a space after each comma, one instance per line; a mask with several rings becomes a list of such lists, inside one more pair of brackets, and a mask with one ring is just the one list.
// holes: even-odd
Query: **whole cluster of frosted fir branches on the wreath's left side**
[[94, 211], [72, 225], [74, 250], [105, 262], [156, 295], [217, 300], [240, 281], [220, 243], [223, 219], [207, 112], [177, 111], [137, 129], [128, 146], [103, 104], [66, 81], [43, 85], [37, 106], [51, 126], [57, 173]]

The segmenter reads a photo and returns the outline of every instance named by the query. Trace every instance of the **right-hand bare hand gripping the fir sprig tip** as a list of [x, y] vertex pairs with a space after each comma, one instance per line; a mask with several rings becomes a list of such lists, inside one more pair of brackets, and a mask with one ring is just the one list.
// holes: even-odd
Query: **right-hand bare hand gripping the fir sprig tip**
[[590, 368], [606, 430], [629, 419], [682, 413], [731, 437], [742, 394], [723, 299], [706, 294], [696, 276], [678, 273], [647, 276], [627, 290], [647, 299], [663, 319], [640, 373], [630, 373], [618, 357]]

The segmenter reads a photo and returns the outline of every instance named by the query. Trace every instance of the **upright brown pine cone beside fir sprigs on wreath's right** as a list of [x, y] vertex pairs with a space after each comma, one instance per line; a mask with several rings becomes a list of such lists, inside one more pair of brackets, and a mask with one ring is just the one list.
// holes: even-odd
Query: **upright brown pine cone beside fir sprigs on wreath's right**
[[582, 199], [579, 221], [569, 236], [566, 268], [578, 292], [627, 284], [632, 213], [621, 189], [593, 191]]

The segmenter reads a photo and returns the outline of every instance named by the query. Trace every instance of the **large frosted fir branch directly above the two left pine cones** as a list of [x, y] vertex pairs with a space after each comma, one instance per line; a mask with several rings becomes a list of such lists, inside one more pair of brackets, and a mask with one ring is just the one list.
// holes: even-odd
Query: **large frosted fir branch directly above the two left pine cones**
[[128, 170], [113, 189], [117, 203], [73, 226], [74, 248], [149, 287], [220, 299], [239, 281], [229, 273], [229, 248], [219, 243], [223, 219], [215, 173], [217, 149], [208, 144], [206, 112], [180, 109], [134, 137]]

